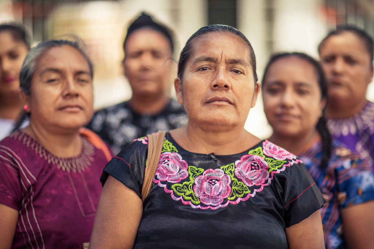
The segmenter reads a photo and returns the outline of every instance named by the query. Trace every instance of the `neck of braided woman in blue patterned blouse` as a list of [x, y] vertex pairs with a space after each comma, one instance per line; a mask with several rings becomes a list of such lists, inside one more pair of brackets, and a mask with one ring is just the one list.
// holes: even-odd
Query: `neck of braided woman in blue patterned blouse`
[[281, 146], [283, 149], [288, 150], [294, 155], [299, 155], [309, 146], [310, 143], [313, 143], [319, 137], [319, 133], [316, 130], [311, 130], [304, 136], [298, 137], [283, 136], [281, 134], [273, 133], [268, 140]]

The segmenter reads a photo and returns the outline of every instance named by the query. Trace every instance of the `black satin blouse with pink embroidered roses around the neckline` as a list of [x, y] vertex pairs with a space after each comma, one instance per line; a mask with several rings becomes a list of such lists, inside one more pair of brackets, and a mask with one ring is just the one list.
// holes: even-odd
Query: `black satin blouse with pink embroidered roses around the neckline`
[[[105, 167], [141, 196], [147, 137]], [[234, 155], [188, 152], [166, 134], [135, 248], [288, 248], [285, 228], [325, 203], [304, 164], [263, 140]]]

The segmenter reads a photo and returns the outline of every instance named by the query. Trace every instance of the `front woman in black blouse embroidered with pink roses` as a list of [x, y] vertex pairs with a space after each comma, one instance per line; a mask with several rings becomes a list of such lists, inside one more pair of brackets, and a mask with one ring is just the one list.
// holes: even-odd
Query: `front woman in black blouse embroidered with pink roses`
[[248, 39], [199, 29], [174, 85], [188, 124], [166, 133], [144, 202], [147, 138], [105, 166], [90, 248], [324, 248], [324, 199], [303, 163], [244, 129], [260, 91]]

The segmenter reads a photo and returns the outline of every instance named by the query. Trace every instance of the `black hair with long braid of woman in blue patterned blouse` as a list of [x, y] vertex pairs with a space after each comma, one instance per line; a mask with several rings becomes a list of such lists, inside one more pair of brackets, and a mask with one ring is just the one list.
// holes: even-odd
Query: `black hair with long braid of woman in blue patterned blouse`
[[[262, 77], [263, 84], [261, 85], [261, 88], [264, 87], [266, 74], [270, 66], [277, 60], [288, 58], [288, 57], [297, 57], [301, 60], [305, 60], [306, 62], [308, 62], [310, 65], [313, 66], [313, 68], [315, 69], [315, 74], [317, 76], [318, 86], [319, 86], [319, 89], [321, 90], [321, 100], [322, 99], [327, 100], [327, 81], [326, 81], [322, 66], [319, 64], [318, 61], [316, 61], [315, 59], [313, 59], [312, 57], [304, 53], [293, 52], [293, 53], [278, 53], [278, 54], [272, 55], [270, 57], [269, 62], [266, 65], [264, 75]], [[319, 165], [321, 168], [325, 168], [327, 166], [328, 161], [331, 157], [331, 152], [332, 152], [332, 137], [327, 128], [327, 121], [324, 117], [324, 112], [325, 112], [325, 109], [322, 111], [322, 116], [321, 118], [319, 118], [318, 123], [316, 125], [316, 129], [318, 133], [321, 135], [321, 139], [322, 139], [323, 154], [322, 154], [321, 164]]]

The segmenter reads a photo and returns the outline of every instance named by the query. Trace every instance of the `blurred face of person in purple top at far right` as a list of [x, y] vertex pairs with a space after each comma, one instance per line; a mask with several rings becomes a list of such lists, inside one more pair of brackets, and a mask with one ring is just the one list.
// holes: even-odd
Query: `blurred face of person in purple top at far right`
[[324, 42], [320, 57], [329, 84], [329, 106], [344, 109], [365, 100], [373, 66], [359, 37], [347, 31], [332, 35]]

